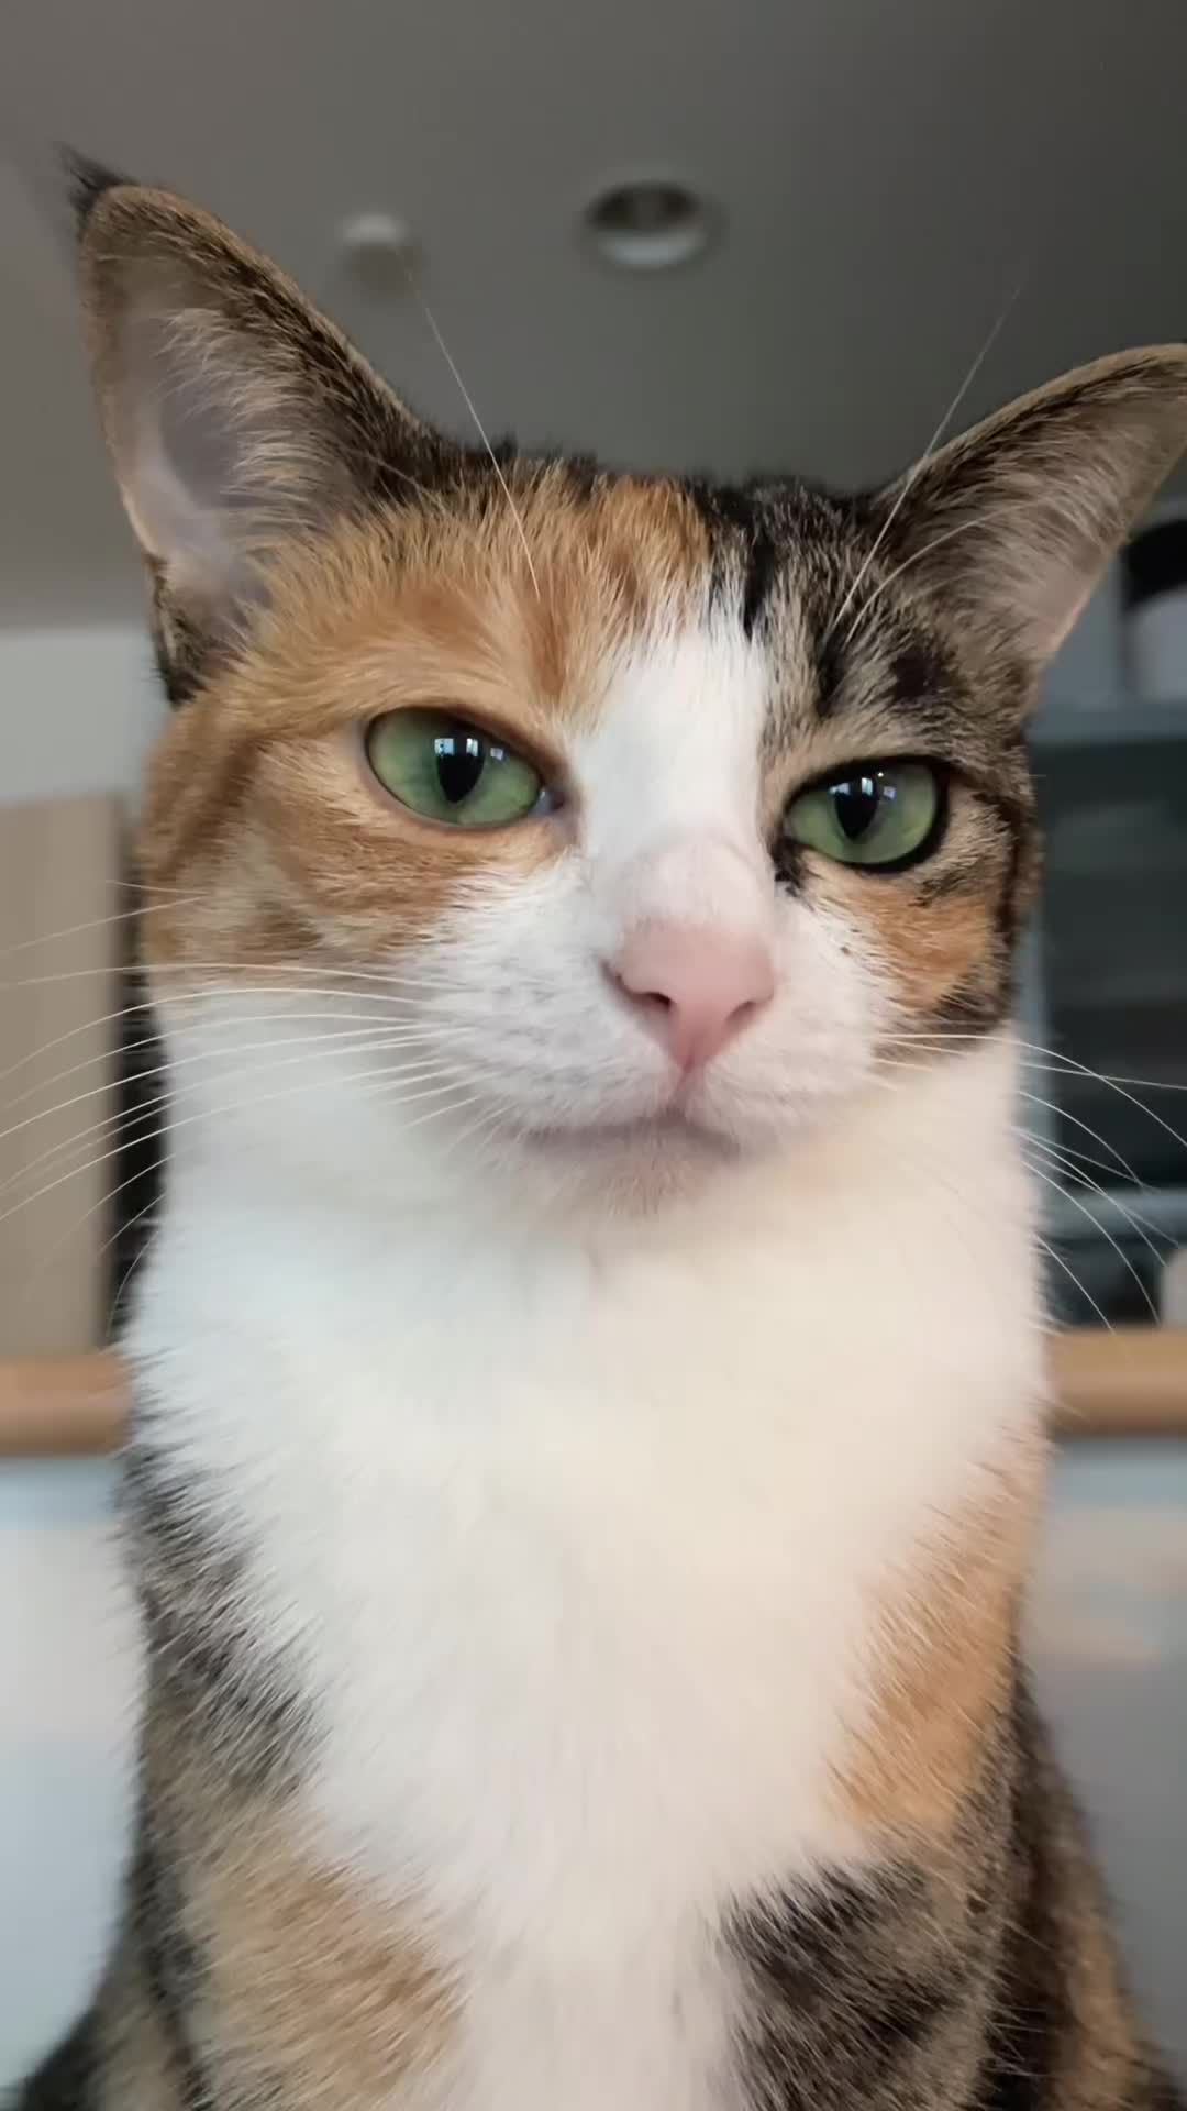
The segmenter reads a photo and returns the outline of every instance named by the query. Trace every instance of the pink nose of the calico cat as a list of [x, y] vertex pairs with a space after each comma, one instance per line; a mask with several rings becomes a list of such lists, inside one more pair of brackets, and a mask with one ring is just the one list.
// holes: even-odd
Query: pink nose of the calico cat
[[636, 931], [610, 977], [682, 1070], [712, 1062], [775, 994], [775, 965], [760, 939], [676, 923]]

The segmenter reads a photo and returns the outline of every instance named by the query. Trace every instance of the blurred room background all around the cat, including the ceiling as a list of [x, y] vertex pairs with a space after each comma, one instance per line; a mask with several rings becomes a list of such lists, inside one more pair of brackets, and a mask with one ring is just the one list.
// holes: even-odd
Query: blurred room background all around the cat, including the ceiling
[[[106, 1338], [152, 1203], [152, 1150], [78, 1144], [144, 1068], [101, 918], [161, 703], [55, 141], [222, 213], [467, 437], [412, 279], [492, 433], [860, 486], [957, 397], [959, 426], [1185, 334], [1185, 80], [1183, 0], [6, 0], [0, 1127], [40, 1125], [0, 1138], [0, 2086], [80, 1999], [123, 1851], [135, 1632], [93, 1366], [65, 1359]], [[1187, 481], [1069, 640], [1033, 749], [1022, 1119], [1069, 1368], [1109, 1357], [1064, 1419], [1035, 1630], [1187, 2065]], [[70, 1091], [87, 1121], [51, 1112]]]

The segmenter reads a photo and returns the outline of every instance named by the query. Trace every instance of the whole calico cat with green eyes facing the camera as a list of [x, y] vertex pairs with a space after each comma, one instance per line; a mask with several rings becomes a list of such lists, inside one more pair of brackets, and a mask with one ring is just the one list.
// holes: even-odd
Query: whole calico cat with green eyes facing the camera
[[177, 705], [118, 1934], [25, 2111], [1170, 2111], [1018, 1653], [1024, 720], [1187, 443], [467, 450], [89, 173]]

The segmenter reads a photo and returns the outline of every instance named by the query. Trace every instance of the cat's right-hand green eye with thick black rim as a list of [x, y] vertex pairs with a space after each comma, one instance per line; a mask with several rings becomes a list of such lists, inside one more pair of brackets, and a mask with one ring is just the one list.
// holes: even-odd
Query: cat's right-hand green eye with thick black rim
[[800, 792], [784, 836], [843, 866], [906, 866], [931, 847], [942, 783], [929, 762], [870, 762]]

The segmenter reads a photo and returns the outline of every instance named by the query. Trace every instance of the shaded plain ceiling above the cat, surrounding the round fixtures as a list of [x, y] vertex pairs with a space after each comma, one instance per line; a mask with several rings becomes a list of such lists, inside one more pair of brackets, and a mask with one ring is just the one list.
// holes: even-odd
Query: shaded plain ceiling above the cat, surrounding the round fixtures
[[[1187, 323], [1183, 0], [4, 0], [0, 623], [137, 602], [53, 228], [49, 141], [270, 249], [406, 395], [467, 424], [416, 304], [351, 283], [387, 209], [490, 429], [636, 464], [868, 481], [919, 452], [1018, 279], [974, 416]], [[625, 277], [619, 173], [724, 239]]]

